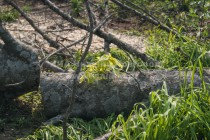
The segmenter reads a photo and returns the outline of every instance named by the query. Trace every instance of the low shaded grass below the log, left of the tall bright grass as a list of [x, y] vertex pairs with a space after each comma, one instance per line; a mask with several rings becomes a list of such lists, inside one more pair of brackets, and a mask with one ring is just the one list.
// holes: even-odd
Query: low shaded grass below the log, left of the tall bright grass
[[[73, 118], [69, 122], [68, 139], [70, 140], [86, 140], [94, 139], [109, 131], [115, 116], [111, 115], [105, 119], [95, 118], [91, 121]], [[62, 140], [63, 130], [61, 126], [42, 126], [32, 135], [18, 140]]]

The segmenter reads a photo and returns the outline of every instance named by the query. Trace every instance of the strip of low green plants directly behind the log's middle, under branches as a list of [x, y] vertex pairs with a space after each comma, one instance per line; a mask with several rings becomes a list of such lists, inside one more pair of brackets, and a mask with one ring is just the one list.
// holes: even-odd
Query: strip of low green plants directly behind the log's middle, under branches
[[[73, 58], [62, 58], [59, 56], [53, 56], [50, 58], [50, 61], [53, 61], [56, 63], [56, 65], [62, 67], [65, 70], [68, 70], [69, 68], [75, 70], [77, 68], [77, 63], [80, 60], [81, 57], [81, 50], [78, 50], [73, 55]], [[104, 51], [98, 51], [98, 52], [89, 52], [85, 58], [84, 65], [82, 66], [82, 70], [86, 70], [86, 65], [96, 63], [98, 61], [98, 58], [102, 57], [104, 55]], [[139, 58], [136, 58], [135, 56], [130, 55], [129, 53], [124, 52], [123, 50], [120, 50], [116, 47], [111, 47], [110, 54], [112, 57], [116, 58], [122, 65], [123, 71], [135, 71], [139, 69], [146, 69], [146, 65], [142, 60]]]

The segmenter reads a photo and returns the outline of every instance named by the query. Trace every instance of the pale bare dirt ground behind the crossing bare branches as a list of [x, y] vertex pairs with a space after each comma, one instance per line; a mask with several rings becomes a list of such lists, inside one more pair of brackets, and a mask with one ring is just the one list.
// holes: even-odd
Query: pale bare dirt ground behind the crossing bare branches
[[[69, 12], [68, 6], [65, 7], [65, 5], [60, 5], [60, 7], [63, 11]], [[43, 32], [46, 32], [50, 38], [58, 41], [64, 46], [77, 41], [87, 33], [84, 30], [73, 27], [69, 22], [47, 9], [46, 6], [37, 5], [36, 8], [39, 8], [40, 11], [31, 11], [28, 13], [29, 17], [32, 18], [35, 25], [37, 25]], [[131, 36], [121, 32], [128, 29], [129, 26], [135, 25], [132, 25], [132, 23], [120, 23], [119, 26], [119, 24], [116, 24], [116, 22], [110, 22], [108, 31], [122, 41], [137, 48], [139, 51], [144, 52], [144, 37], [134, 35]], [[47, 41], [45, 41], [41, 35], [35, 32], [31, 25], [22, 17], [16, 22], [7, 24], [6, 28], [16, 39], [24, 42], [27, 45], [36, 47], [37, 49], [43, 48], [48, 53], [55, 51], [55, 49], [51, 48]], [[102, 50], [103, 42], [103, 39], [94, 36], [91, 51]], [[82, 44], [77, 44], [73, 48], [81, 49], [81, 46]]]

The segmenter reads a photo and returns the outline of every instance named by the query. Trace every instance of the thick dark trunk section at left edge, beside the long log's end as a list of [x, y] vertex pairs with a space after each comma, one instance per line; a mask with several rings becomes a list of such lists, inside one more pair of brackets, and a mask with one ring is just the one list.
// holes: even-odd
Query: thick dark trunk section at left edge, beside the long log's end
[[15, 40], [0, 25], [0, 99], [38, 90], [40, 65], [34, 49]]

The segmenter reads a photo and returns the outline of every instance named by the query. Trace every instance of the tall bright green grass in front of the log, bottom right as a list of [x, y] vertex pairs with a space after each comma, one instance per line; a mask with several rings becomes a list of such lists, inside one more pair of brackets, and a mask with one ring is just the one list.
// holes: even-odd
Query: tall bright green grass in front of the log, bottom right
[[150, 105], [136, 104], [130, 117], [119, 115], [111, 139], [210, 139], [210, 95], [201, 88], [188, 96], [169, 96], [167, 88], [149, 95]]

